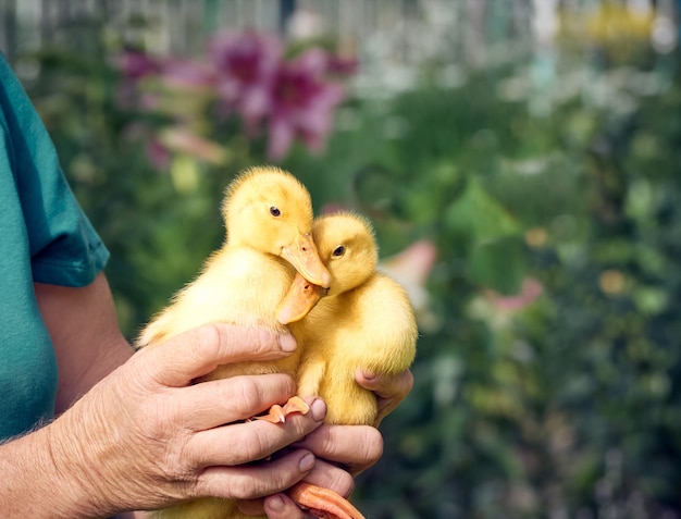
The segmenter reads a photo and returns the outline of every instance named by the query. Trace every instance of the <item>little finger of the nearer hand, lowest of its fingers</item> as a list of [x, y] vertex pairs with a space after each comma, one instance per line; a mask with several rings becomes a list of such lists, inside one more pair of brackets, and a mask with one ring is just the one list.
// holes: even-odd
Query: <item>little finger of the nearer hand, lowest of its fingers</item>
[[294, 450], [274, 461], [240, 467], [210, 467], [196, 486], [196, 497], [253, 499], [276, 494], [296, 484], [314, 467], [314, 456], [305, 449]]

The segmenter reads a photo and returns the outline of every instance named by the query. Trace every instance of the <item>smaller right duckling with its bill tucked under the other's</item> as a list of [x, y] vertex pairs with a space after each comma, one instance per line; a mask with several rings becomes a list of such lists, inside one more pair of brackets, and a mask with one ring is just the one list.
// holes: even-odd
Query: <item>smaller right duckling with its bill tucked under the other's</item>
[[[312, 237], [331, 273], [331, 288], [305, 319], [290, 324], [302, 348], [298, 394], [323, 397], [327, 423], [373, 425], [375, 395], [360, 387], [355, 374], [358, 369], [396, 374], [411, 366], [418, 337], [414, 312], [405, 289], [376, 272], [377, 247], [366, 219], [347, 212], [321, 217]], [[313, 292], [324, 291], [296, 276], [287, 297]], [[280, 319], [287, 321], [286, 311]], [[299, 501], [318, 496], [318, 489], [298, 483], [289, 495]], [[363, 517], [318, 497], [319, 517]]]

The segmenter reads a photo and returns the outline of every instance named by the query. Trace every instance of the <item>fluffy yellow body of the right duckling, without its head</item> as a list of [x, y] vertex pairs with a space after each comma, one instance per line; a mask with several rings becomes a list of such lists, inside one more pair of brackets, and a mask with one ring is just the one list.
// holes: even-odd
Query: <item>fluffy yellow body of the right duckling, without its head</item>
[[324, 398], [327, 423], [373, 425], [376, 397], [355, 376], [359, 369], [396, 374], [411, 366], [417, 328], [403, 287], [374, 273], [357, 288], [321, 299], [297, 328], [305, 329], [298, 393]]

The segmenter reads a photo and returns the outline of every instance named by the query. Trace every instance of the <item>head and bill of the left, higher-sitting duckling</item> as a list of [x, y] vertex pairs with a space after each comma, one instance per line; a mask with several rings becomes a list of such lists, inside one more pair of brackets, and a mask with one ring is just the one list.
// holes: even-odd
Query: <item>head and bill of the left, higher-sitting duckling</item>
[[227, 243], [278, 256], [323, 287], [329, 271], [312, 240], [312, 202], [305, 186], [278, 168], [247, 170], [227, 187], [222, 206]]

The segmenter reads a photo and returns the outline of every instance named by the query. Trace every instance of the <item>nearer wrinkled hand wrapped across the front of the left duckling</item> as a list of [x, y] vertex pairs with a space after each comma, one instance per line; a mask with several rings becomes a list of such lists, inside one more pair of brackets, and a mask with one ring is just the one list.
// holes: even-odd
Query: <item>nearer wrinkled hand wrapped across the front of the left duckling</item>
[[213, 324], [135, 354], [45, 428], [53, 462], [87, 497], [64, 512], [104, 516], [208, 495], [248, 499], [309, 474], [315, 459], [305, 448], [251, 461], [317, 429], [323, 400], [283, 425], [239, 423], [293, 396], [294, 381], [265, 374], [193, 385], [218, 364], [277, 359], [293, 348], [287, 335]]

